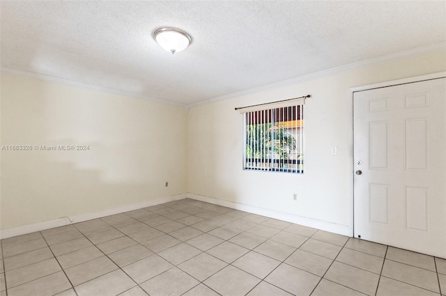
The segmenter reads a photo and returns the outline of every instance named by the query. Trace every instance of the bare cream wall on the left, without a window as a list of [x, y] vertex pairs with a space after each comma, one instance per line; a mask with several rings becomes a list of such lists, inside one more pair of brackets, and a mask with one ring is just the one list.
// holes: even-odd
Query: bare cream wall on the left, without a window
[[1, 151], [1, 229], [184, 193], [186, 142], [182, 106], [3, 74], [1, 145], [90, 149]]

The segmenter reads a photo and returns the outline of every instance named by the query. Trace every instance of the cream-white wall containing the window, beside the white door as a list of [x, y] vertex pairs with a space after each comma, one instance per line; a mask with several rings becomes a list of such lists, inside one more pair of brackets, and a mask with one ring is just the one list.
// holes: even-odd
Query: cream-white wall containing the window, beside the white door
[[[442, 72], [445, 51], [287, 83], [194, 106], [188, 113], [187, 190], [295, 215], [353, 234], [353, 132], [349, 88]], [[305, 174], [243, 171], [243, 116], [235, 107], [312, 94], [305, 104]], [[331, 147], [338, 148], [336, 156]], [[298, 201], [293, 201], [293, 193]]]

